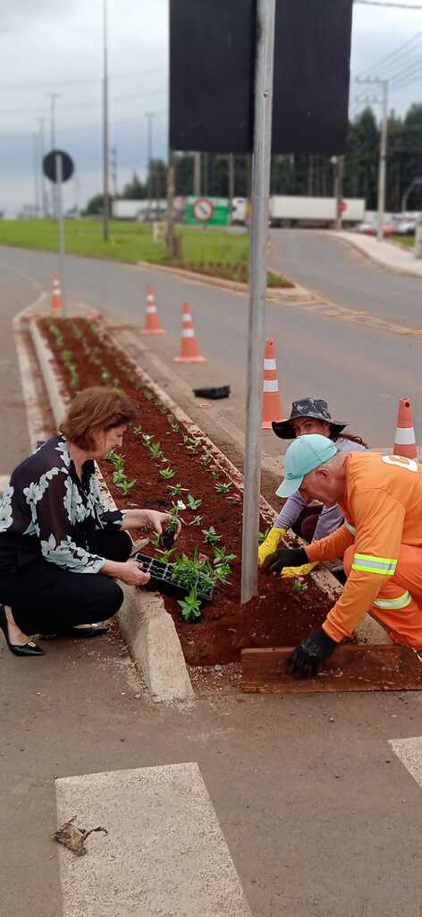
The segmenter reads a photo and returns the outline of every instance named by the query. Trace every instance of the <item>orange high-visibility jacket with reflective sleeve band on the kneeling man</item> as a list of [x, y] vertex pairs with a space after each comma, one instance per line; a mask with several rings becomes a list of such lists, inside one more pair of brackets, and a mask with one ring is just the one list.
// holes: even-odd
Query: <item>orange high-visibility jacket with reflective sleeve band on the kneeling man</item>
[[394, 576], [400, 546], [422, 547], [422, 468], [411, 458], [354, 452], [346, 459], [340, 505], [344, 525], [307, 547], [309, 561], [318, 563], [354, 545], [350, 576], [322, 625], [337, 642], [352, 634]]

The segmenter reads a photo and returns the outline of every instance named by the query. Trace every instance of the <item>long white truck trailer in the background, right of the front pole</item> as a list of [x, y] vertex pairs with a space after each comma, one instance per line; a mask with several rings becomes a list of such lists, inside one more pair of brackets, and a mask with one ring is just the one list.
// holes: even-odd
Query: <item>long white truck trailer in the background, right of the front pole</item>
[[[361, 198], [343, 198], [342, 225], [356, 226], [365, 215], [365, 201]], [[295, 197], [276, 194], [270, 197], [269, 219], [271, 226], [333, 226], [336, 218], [334, 197]]]

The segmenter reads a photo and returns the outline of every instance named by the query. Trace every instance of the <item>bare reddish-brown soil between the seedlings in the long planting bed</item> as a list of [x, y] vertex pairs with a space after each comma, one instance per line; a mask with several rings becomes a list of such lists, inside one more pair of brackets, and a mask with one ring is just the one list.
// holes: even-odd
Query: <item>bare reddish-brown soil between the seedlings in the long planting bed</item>
[[[51, 326], [60, 329], [62, 343], [57, 345]], [[134, 364], [115, 348], [110, 337], [103, 330], [86, 319], [49, 319], [40, 321], [40, 328], [54, 352], [63, 392], [71, 397], [79, 388], [104, 383], [118, 385], [130, 395], [138, 410], [138, 421], [143, 433], [154, 436], [176, 471], [171, 481], [163, 480], [159, 470], [165, 466], [150, 454], [142, 436], [135, 436], [128, 429], [124, 437], [124, 471], [128, 480], [136, 479], [134, 488], [127, 497], [122, 496], [113, 483], [113, 469], [108, 462], [102, 463], [102, 471], [115, 502], [122, 507], [131, 505], [155, 507], [160, 510], [171, 508], [168, 484], [180, 481], [202, 503], [192, 512], [184, 510], [181, 515], [185, 525], [179, 536], [178, 548], [189, 555], [195, 547], [210, 558], [213, 552], [203, 540], [201, 529], [211, 525], [222, 535], [220, 545], [228, 553], [236, 555], [233, 562], [231, 585], [216, 591], [213, 602], [205, 606], [200, 623], [184, 621], [175, 599], [165, 597], [168, 612], [177, 626], [183, 652], [192, 666], [228, 663], [239, 660], [243, 647], [294, 646], [309, 631], [318, 627], [330, 609], [330, 602], [317, 587], [309, 582], [308, 591], [297, 595], [293, 592], [292, 580], [259, 576], [259, 596], [246, 605], [240, 603], [241, 545], [242, 545], [242, 492], [232, 486], [228, 495], [216, 492], [217, 481], [228, 481], [224, 473], [211, 462], [208, 468], [200, 462], [206, 454], [206, 445], [191, 451], [183, 443], [182, 428], [174, 432], [168, 422], [168, 409], [149, 392], [145, 383], [135, 374]], [[70, 372], [60, 359], [60, 350], [70, 350], [79, 381], [77, 387], [70, 386]], [[142, 370], [142, 368], [140, 368]], [[107, 375], [107, 378], [104, 378]], [[152, 398], [148, 400], [148, 395]], [[213, 473], [215, 477], [213, 477]], [[183, 494], [186, 497], [187, 494]], [[228, 499], [234, 498], [237, 503]], [[200, 526], [189, 525], [195, 514], [203, 516]], [[261, 529], [267, 525], [262, 521]], [[144, 548], [154, 554], [152, 546]]]

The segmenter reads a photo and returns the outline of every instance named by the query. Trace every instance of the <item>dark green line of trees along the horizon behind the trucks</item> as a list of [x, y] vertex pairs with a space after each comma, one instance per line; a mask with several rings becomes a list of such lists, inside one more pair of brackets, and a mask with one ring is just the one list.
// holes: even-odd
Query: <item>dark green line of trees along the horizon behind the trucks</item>
[[[373, 109], [365, 108], [349, 125], [344, 156], [344, 197], [363, 197], [368, 210], [376, 209], [378, 163], [381, 127]], [[193, 193], [193, 154], [175, 154], [176, 193]], [[234, 196], [247, 197], [251, 188], [250, 156], [234, 156]], [[411, 105], [406, 116], [391, 112], [388, 119], [386, 210], [401, 210], [408, 186], [422, 177], [422, 104]], [[321, 197], [333, 194], [334, 170], [329, 157], [273, 156], [271, 166], [272, 194], [300, 194]], [[201, 155], [201, 194], [213, 197], [229, 195], [229, 158], [215, 153]], [[147, 200], [167, 194], [167, 167], [163, 160], [150, 163], [150, 183], [134, 174], [124, 186], [119, 198]], [[87, 213], [99, 213], [103, 195], [98, 194], [88, 204]], [[408, 199], [408, 209], [422, 209], [422, 186]]]

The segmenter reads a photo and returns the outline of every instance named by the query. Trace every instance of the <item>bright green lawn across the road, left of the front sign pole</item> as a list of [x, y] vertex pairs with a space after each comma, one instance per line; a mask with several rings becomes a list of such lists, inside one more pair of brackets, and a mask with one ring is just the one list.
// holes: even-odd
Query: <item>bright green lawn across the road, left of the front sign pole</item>
[[[246, 280], [249, 235], [187, 226], [178, 226], [176, 232], [182, 237], [182, 259], [173, 263], [220, 277]], [[104, 242], [101, 220], [66, 220], [65, 238], [66, 251], [73, 255], [132, 263], [169, 263], [165, 243], [154, 242], [152, 227], [143, 223], [111, 220], [110, 240]], [[58, 225], [53, 220], [0, 220], [0, 245], [57, 251]], [[283, 278], [274, 274], [269, 275], [268, 281], [272, 286], [286, 285]]]

